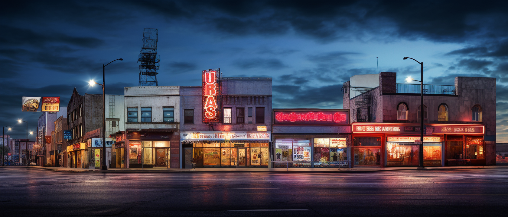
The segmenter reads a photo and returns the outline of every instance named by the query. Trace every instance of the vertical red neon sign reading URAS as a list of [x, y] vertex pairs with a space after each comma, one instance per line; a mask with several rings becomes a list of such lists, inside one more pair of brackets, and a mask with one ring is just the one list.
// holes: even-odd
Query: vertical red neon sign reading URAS
[[203, 123], [220, 123], [220, 70], [203, 71]]

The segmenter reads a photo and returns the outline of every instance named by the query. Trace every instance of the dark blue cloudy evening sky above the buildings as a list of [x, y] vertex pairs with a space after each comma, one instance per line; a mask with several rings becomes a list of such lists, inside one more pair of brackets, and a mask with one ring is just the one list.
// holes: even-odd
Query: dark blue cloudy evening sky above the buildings
[[[201, 70], [273, 77], [278, 108], [342, 108], [342, 82], [397, 72], [453, 85], [497, 78], [497, 142], [508, 142], [508, 7], [501, 1], [11, 1], [0, 8], [0, 122], [24, 138], [40, 112], [22, 96], [137, 86], [143, 28], [158, 28], [159, 85], [201, 85]], [[378, 66], [376, 65], [378, 57]], [[32, 137], [34, 138], [34, 137]]]

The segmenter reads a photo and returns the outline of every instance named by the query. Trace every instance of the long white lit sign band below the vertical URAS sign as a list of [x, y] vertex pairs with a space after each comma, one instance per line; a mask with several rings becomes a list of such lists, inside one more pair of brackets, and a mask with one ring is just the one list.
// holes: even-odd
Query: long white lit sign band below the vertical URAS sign
[[266, 133], [227, 133], [227, 132], [192, 132], [180, 133], [181, 140], [271, 140], [271, 132]]

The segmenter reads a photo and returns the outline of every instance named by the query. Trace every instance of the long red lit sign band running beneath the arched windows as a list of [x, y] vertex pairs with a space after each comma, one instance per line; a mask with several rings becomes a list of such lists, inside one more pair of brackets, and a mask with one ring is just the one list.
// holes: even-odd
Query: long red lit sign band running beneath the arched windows
[[[358, 124], [353, 123], [353, 133], [420, 133], [419, 126], [396, 124]], [[432, 134], [483, 134], [481, 125], [425, 124], [425, 135]]]

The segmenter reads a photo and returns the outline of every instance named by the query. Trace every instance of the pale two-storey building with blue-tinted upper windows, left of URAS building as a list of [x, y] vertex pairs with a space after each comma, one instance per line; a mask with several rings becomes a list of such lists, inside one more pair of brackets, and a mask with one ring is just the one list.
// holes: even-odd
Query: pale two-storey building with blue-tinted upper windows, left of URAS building
[[[179, 168], [180, 87], [133, 86], [126, 87], [124, 94], [125, 147], [116, 152], [124, 148], [120, 157], [125, 167]], [[138, 159], [132, 150], [137, 150]]]

